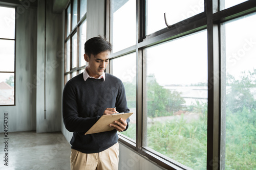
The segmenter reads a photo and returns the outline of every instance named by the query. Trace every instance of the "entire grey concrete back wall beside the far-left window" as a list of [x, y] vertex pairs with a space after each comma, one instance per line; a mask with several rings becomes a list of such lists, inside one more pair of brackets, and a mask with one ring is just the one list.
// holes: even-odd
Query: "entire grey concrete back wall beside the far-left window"
[[0, 132], [4, 132], [5, 112], [8, 113], [8, 132], [60, 131], [64, 61], [62, 14], [52, 12], [53, 1], [50, 0], [46, 5], [45, 0], [39, 0], [36, 6], [18, 2], [4, 5], [17, 7], [18, 10], [16, 105], [0, 106]]

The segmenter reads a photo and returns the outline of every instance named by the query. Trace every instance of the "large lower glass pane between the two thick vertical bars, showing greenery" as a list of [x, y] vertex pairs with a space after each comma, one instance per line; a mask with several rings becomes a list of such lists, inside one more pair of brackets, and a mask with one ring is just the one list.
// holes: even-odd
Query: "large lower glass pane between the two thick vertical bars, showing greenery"
[[206, 169], [207, 32], [145, 52], [147, 147], [190, 168]]

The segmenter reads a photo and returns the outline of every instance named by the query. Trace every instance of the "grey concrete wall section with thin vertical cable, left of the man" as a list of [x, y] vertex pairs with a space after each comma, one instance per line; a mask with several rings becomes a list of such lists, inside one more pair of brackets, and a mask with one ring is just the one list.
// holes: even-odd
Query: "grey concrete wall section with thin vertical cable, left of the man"
[[64, 22], [45, 1], [38, 1], [36, 132], [60, 131], [61, 124]]

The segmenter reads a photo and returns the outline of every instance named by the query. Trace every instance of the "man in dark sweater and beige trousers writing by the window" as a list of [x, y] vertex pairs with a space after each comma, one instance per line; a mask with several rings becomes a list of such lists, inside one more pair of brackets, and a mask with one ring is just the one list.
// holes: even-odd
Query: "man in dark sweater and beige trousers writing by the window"
[[84, 44], [86, 69], [63, 89], [63, 122], [73, 132], [71, 169], [118, 169], [117, 131], [125, 131], [130, 119], [111, 124], [112, 131], [84, 135], [102, 115], [130, 111], [121, 80], [104, 72], [111, 51], [112, 45], [105, 39], [89, 39]]

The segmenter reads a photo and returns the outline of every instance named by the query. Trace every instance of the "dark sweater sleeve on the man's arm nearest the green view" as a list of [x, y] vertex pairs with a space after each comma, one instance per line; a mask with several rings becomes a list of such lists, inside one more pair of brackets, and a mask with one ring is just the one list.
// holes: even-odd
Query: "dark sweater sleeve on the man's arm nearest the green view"
[[[117, 84], [117, 87], [118, 87], [118, 94], [116, 98], [116, 110], [119, 113], [120, 112], [129, 113], [130, 109], [127, 107], [127, 101], [126, 101], [126, 95], [125, 95], [125, 89], [124, 89], [123, 83], [120, 81]], [[126, 131], [129, 127], [130, 118], [127, 118], [126, 122], [127, 122], [127, 126], [124, 131]]]

